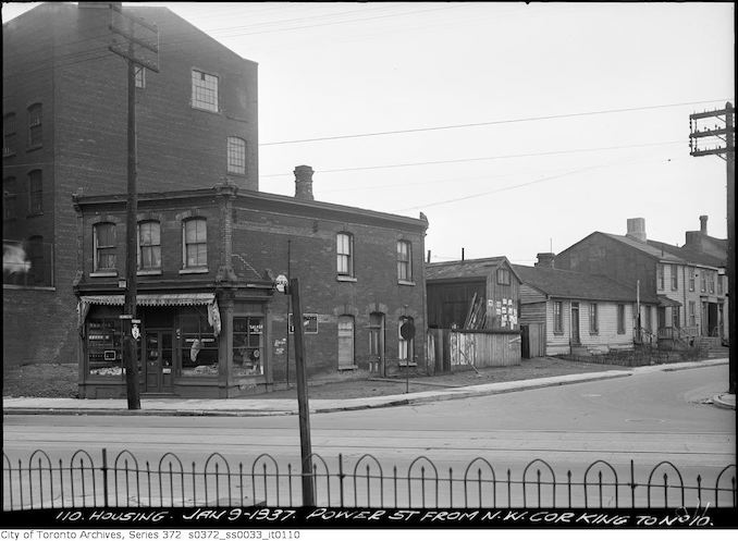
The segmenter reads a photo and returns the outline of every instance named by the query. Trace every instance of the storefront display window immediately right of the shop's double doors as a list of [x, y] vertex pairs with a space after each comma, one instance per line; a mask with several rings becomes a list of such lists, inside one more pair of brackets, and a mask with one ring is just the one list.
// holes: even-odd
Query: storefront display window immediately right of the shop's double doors
[[218, 339], [202, 311], [180, 316], [177, 335], [182, 347], [182, 376], [218, 376]]

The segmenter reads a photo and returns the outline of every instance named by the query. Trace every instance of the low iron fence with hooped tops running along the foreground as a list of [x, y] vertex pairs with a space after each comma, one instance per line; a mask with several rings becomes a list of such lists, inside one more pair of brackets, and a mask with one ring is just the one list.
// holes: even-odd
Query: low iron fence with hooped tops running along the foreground
[[[477, 457], [465, 467], [447, 469], [419, 456], [405, 468], [383, 468], [365, 454], [350, 462], [339, 455], [329, 467], [320, 455], [311, 455], [316, 505], [321, 507], [406, 508], [513, 508], [513, 507], [685, 507], [691, 505], [736, 507], [736, 465], [686, 482], [671, 462], [652, 468], [634, 460], [622, 470], [606, 460], [556, 475], [537, 458], [521, 472], [497, 471]], [[625, 469], [626, 471], [623, 471]], [[107, 450], [99, 458], [84, 450], [69, 459], [52, 459], [37, 450], [27, 460], [3, 453], [3, 509], [82, 507], [233, 507], [302, 506], [299, 464], [280, 464], [261, 454], [250, 465], [232, 467], [220, 453], [198, 466], [185, 464], [173, 453], [156, 463], [139, 460], [130, 451], [112, 459]]]

